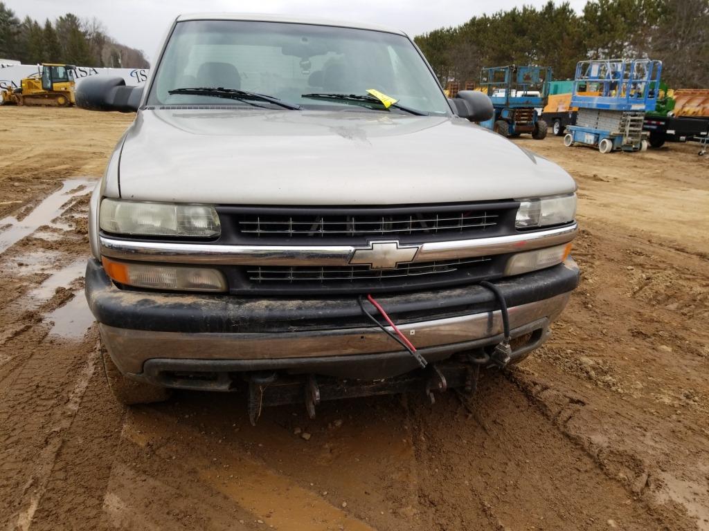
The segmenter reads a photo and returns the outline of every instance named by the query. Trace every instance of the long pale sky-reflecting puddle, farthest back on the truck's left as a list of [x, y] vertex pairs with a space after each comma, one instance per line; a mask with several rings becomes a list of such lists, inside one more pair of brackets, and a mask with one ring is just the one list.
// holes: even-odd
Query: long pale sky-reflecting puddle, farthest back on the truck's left
[[40, 202], [21, 221], [18, 221], [13, 216], [0, 219], [0, 227], [6, 227], [0, 232], [0, 253], [4, 253], [11, 246], [43, 225], [70, 230], [72, 227], [69, 224], [64, 222], [52, 223], [52, 220], [60, 217], [65, 212], [65, 204], [69, 199], [90, 193], [95, 183], [96, 181], [90, 181], [89, 179], [69, 179], [62, 183], [62, 188]]

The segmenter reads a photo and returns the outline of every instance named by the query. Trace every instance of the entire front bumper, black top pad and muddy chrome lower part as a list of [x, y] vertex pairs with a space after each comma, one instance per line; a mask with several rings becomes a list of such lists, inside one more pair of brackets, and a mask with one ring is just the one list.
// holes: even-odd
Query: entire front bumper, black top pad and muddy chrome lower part
[[[571, 258], [498, 280], [516, 343], [513, 360], [547, 337], [579, 282]], [[121, 290], [97, 261], [86, 297], [121, 372], [164, 387], [230, 391], [255, 372], [376, 380], [418, 367], [362, 315], [355, 297], [239, 297]], [[471, 285], [377, 299], [429, 362], [502, 340], [493, 294]]]

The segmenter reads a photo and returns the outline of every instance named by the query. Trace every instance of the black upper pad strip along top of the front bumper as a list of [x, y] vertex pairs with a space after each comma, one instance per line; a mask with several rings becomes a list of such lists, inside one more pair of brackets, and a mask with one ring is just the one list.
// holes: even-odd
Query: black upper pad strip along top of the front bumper
[[[571, 261], [573, 263], [573, 261]], [[571, 292], [579, 270], [567, 264], [497, 280], [508, 307]], [[397, 324], [491, 312], [493, 294], [479, 285], [377, 300]], [[86, 266], [86, 299], [100, 324], [118, 329], [179, 333], [274, 333], [371, 326], [355, 297], [243, 297], [121, 290], [101, 263]]]

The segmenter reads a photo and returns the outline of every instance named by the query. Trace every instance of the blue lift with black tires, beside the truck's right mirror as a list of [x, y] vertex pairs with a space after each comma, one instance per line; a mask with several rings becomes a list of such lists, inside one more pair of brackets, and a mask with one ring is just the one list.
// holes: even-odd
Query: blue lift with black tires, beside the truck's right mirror
[[[540, 112], [547, 104], [552, 69], [547, 67], [488, 67], [482, 69], [481, 88], [487, 89], [495, 114], [480, 122], [505, 137], [532, 133], [535, 139], [547, 136], [547, 122]], [[538, 109], [538, 110], [537, 110]]]

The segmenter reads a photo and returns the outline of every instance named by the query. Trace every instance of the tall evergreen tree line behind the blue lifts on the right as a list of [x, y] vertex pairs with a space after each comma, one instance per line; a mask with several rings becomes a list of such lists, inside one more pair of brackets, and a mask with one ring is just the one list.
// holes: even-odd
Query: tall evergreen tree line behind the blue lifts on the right
[[581, 13], [549, 0], [476, 16], [415, 38], [443, 84], [482, 67], [537, 64], [574, 79], [581, 59], [650, 57], [674, 88], [709, 88], [709, 0], [591, 0]]

